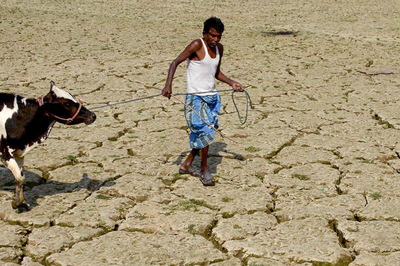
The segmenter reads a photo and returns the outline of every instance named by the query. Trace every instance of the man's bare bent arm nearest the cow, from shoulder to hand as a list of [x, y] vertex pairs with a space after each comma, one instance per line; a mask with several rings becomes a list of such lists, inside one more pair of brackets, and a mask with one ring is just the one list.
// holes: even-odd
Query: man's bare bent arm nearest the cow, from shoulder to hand
[[165, 86], [162, 89], [163, 96], [167, 97], [168, 99], [171, 98], [172, 79], [174, 78], [176, 68], [179, 66], [180, 63], [188, 59], [191, 54], [197, 52], [201, 47], [202, 47], [201, 41], [195, 40], [191, 44], [189, 44], [174, 61], [172, 61], [168, 69], [167, 81], [165, 82]]

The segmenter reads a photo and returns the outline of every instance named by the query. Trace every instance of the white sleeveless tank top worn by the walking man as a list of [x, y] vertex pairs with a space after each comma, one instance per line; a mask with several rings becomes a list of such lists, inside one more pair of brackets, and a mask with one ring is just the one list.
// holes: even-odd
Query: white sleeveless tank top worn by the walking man
[[188, 59], [188, 64], [186, 66], [187, 93], [194, 93], [200, 96], [213, 95], [217, 93], [214, 78], [219, 63], [218, 46], [217, 56], [211, 58], [204, 41], [202, 39], [200, 40], [203, 44], [205, 56], [203, 60], [200, 61], [192, 61]]

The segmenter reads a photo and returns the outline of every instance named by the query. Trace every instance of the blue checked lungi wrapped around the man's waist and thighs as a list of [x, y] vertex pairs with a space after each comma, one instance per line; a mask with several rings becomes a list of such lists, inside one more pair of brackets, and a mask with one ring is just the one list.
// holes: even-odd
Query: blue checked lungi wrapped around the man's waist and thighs
[[[218, 129], [218, 117], [221, 109], [221, 97], [214, 95], [199, 96], [187, 94], [185, 103], [192, 107], [200, 116], [214, 128]], [[214, 129], [208, 126], [200, 117], [185, 105], [185, 118], [190, 133], [190, 148], [201, 149], [215, 139]]]

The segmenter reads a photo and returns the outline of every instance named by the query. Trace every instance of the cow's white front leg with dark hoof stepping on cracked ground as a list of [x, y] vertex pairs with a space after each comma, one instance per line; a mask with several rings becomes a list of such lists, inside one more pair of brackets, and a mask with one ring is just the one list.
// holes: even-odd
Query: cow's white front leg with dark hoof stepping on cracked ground
[[[13, 209], [17, 209], [18, 207], [25, 207], [24, 203], [24, 194], [23, 194], [23, 184], [25, 183], [25, 176], [22, 172], [22, 169], [19, 167], [17, 161], [12, 156], [9, 149], [3, 149], [1, 152], [1, 161], [4, 163], [4, 166], [11, 171], [12, 175], [15, 178], [15, 198], [11, 202], [11, 206]], [[18, 160], [22, 163], [21, 160]]]

